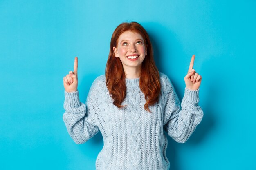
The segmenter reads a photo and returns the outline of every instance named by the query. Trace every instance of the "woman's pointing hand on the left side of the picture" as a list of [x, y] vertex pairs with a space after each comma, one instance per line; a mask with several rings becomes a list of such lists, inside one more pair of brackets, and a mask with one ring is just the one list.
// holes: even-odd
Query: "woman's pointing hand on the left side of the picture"
[[70, 71], [65, 77], [63, 77], [63, 84], [66, 92], [75, 92], [77, 91], [77, 57], [75, 57], [74, 71]]

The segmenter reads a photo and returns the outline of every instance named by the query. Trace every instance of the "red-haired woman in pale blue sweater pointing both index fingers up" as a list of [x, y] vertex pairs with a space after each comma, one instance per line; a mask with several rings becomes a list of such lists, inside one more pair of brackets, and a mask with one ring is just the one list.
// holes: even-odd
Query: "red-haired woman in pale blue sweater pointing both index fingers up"
[[63, 120], [76, 144], [99, 130], [104, 146], [96, 161], [97, 170], [168, 170], [167, 138], [184, 143], [201, 122], [199, 102], [202, 77], [193, 69], [192, 56], [180, 104], [170, 79], [157, 70], [146, 30], [137, 22], [115, 29], [105, 75], [97, 77], [80, 102], [77, 65], [63, 78]]

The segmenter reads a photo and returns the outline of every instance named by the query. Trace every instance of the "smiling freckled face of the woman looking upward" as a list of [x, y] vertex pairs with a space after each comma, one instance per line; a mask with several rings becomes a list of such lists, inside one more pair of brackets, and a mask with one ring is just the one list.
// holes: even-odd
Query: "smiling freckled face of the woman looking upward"
[[119, 57], [124, 71], [141, 69], [141, 64], [147, 55], [143, 37], [136, 32], [125, 31], [117, 40], [117, 47], [113, 47], [115, 57]]

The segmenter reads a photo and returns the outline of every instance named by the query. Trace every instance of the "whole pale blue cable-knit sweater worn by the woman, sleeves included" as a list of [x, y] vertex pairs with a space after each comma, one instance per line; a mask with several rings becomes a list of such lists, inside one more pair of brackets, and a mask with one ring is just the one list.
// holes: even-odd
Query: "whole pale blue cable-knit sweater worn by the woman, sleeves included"
[[66, 92], [63, 120], [76, 144], [83, 144], [99, 130], [104, 146], [96, 160], [97, 170], [168, 170], [167, 137], [184, 143], [201, 122], [203, 111], [199, 89], [185, 88], [180, 100], [170, 79], [160, 73], [159, 102], [144, 110], [146, 102], [139, 88], [139, 78], [126, 78], [126, 98], [119, 109], [113, 104], [106, 87], [105, 75], [97, 77], [87, 95], [85, 104], [79, 93]]

